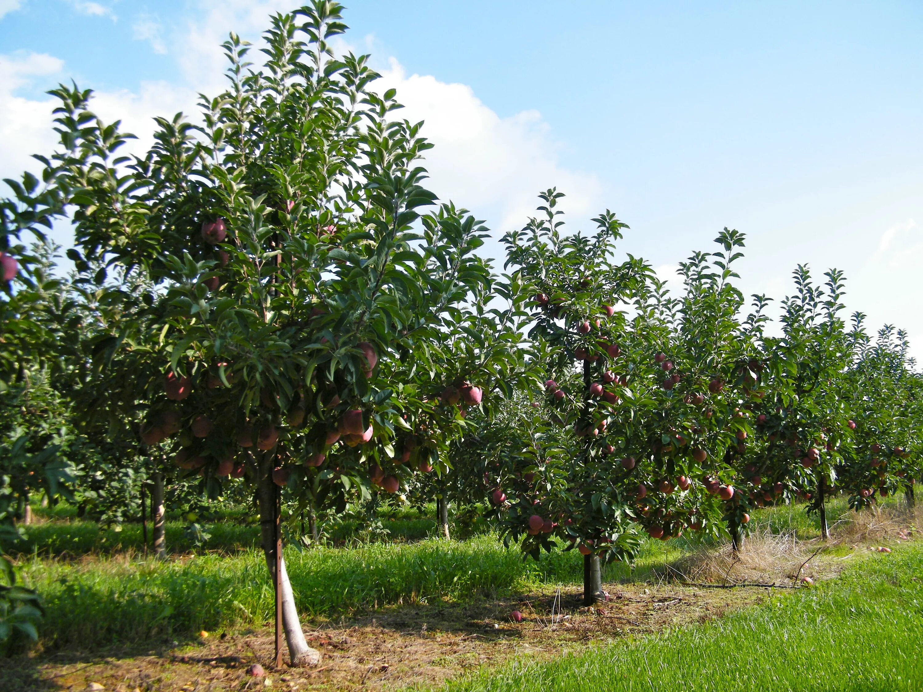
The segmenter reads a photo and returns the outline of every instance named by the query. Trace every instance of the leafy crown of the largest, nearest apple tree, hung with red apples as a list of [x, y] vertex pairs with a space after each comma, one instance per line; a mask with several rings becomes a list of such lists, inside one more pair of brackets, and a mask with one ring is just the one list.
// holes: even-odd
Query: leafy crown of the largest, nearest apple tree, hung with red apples
[[[229, 89], [202, 97], [201, 125], [158, 119], [143, 156], [120, 155], [130, 136], [89, 91], [55, 91], [69, 257], [114, 317], [88, 347], [87, 417], [169, 449], [212, 494], [252, 483], [268, 559], [276, 486], [342, 505], [447, 468], [462, 407], [485, 405], [487, 378], [509, 395], [522, 361], [487, 305], [484, 227], [436, 205], [430, 145], [370, 90], [367, 56], [330, 49], [341, 9], [274, 16], [261, 67], [232, 35]], [[286, 613], [293, 661], [317, 661]]]

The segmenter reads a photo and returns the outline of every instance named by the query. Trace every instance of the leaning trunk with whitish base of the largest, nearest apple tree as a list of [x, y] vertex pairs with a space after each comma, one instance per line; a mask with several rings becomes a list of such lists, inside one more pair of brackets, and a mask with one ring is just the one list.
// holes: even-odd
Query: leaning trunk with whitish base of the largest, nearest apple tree
[[[270, 569], [270, 576], [272, 579], [275, 579], [276, 532], [274, 512], [276, 505], [276, 486], [275, 483], [272, 483], [272, 460], [273, 456], [267, 454], [259, 464], [257, 501], [259, 505], [259, 529], [263, 554], [266, 556], [266, 566]], [[320, 651], [311, 649], [311, 647], [307, 645], [305, 633], [301, 629], [298, 611], [294, 606], [292, 582], [289, 581], [288, 573], [285, 571], [284, 559], [279, 560], [279, 573], [281, 581], [279, 586], [282, 592], [282, 628], [285, 630], [285, 641], [288, 644], [291, 664], [293, 666], [319, 665]]]

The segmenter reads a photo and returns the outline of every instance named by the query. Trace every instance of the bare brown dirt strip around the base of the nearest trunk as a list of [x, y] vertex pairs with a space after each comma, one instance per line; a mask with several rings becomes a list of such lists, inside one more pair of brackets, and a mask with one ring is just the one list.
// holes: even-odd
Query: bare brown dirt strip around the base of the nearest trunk
[[[394, 689], [429, 686], [513, 656], [558, 652], [720, 617], [759, 603], [768, 589], [703, 589], [673, 584], [607, 585], [609, 601], [581, 607], [577, 588], [506, 601], [431, 603], [379, 610], [354, 619], [308, 622], [317, 669], [273, 669], [270, 627], [211, 633], [196, 646], [173, 650], [62, 652], [0, 662], [0, 689], [19, 690], [281, 690]], [[522, 622], [510, 613], [519, 610]], [[247, 674], [253, 663], [263, 678]]]

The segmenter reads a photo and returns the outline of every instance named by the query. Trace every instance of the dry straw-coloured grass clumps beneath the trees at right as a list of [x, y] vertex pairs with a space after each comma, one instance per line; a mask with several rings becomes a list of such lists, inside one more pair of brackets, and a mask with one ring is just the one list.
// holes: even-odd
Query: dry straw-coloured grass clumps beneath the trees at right
[[848, 511], [831, 522], [830, 540], [799, 540], [797, 531], [750, 534], [740, 551], [730, 545], [702, 547], [671, 565], [658, 569], [663, 579], [716, 585], [774, 584], [792, 586], [796, 580], [828, 579], [860, 549], [879, 543], [909, 541], [923, 535], [923, 509], [899, 506]]

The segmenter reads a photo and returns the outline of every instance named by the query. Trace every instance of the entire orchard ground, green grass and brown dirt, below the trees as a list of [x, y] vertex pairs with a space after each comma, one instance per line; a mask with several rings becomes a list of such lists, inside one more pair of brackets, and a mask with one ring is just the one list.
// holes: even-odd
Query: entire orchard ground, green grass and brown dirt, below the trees
[[[923, 688], [918, 657], [908, 653], [923, 647], [923, 545], [910, 540], [923, 531], [923, 518], [897, 501], [861, 516], [839, 499], [828, 508], [834, 536], [822, 547], [816, 517], [797, 506], [755, 512], [741, 555], [694, 536], [648, 540], [634, 567], [605, 566], [615, 600], [597, 609], [581, 608], [575, 551], [535, 562], [494, 533], [427, 538], [435, 522], [419, 511], [382, 513], [389, 533], [363, 534], [356, 521], [338, 527], [350, 547], [286, 548], [309, 640], [330, 662], [322, 679], [310, 671], [297, 679], [311, 688], [352, 688], [355, 666], [378, 661], [390, 665], [375, 669], [375, 687], [389, 687], [389, 675], [391, 687], [433, 685], [491, 662], [448, 689]], [[270, 579], [246, 513], [212, 516], [208, 531], [210, 543], [196, 546], [174, 517], [173, 553], [158, 561], [140, 551], [138, 525], [104, 531], [66, 511], [45, 515], [18, 554], [25, 581], [44, 600], [42, 646], [38, 655], [0, 665], [0, 688], [17, 675], [30, 681], [22, 689], [56, 688], [39, 682], [45, 678], [75, 689], [123, 678], [175, 689], [202, 675], [217, 685], [210, 689], [238, 688], [246, 677], [244, 663], [235, 662], [270, 655]], [[882, 542], [893, 555], [870, 553]], [[804, 574], [821, 579], [813, 589], [697, 593], [694, 584], [670, 581], [683, 569], [694, 578], [680, 582], [790, 586], [805, 560]], [[851, 567], [830, 579], [843, 565]], [[570, 619], [549, 629], [561, 606]], [[515, 609], [527, 615], [518, 625], [509, 619]], [[201, 630], [216, 637], [199, 638]], [[414, 673], [421, 666], [437, 672]]]

